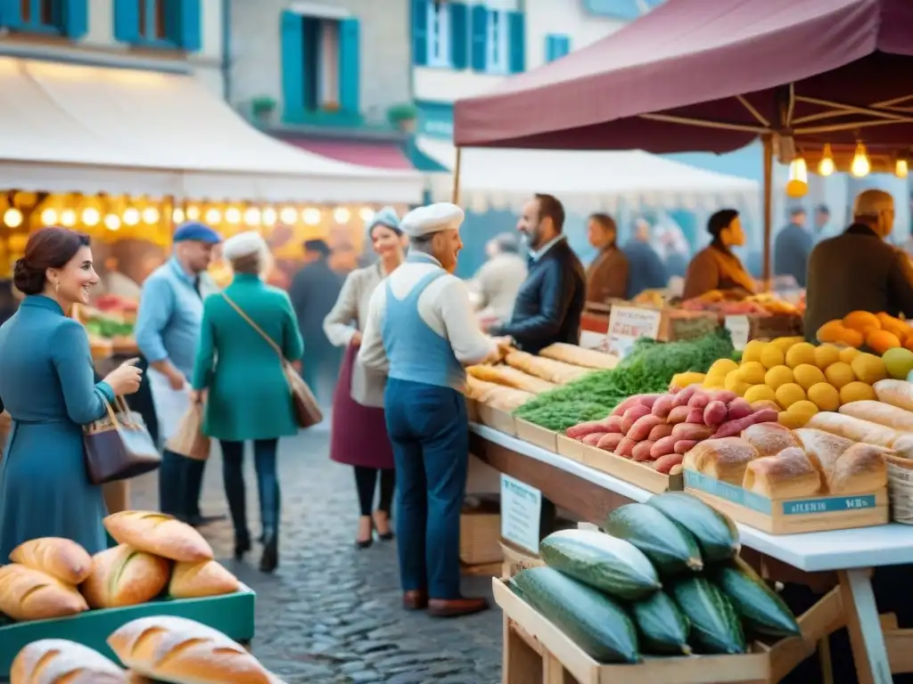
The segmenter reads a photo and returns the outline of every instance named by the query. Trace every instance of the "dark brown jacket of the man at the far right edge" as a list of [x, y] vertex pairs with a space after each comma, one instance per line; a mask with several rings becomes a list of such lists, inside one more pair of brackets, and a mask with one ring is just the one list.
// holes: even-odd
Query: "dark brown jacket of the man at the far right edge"
[[913, 266], [909, 257], [868, 226], [817, 244], [808, 261], [805, 337], [851, 311], [913, 316]]

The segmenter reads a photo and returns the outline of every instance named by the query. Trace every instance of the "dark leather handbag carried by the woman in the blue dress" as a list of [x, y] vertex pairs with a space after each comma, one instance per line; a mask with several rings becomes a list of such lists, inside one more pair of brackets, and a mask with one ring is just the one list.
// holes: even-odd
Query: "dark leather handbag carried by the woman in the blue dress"
[[155, 448], [140, 415], [133, 413], [122, 397], [115, 399], [117, 410], [108, 399], [101, 400], [108, 415], [82, 429], [89, 482], [127, 480], [161, 466], [162, 454]]

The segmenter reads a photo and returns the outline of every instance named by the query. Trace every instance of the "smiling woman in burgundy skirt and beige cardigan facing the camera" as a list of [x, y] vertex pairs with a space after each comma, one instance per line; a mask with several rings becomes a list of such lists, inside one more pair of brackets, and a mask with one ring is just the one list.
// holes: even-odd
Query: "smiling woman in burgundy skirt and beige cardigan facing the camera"
[[[383, 540], [394, 537], [390, 529], [390, 511], [396, 476], [394, 454], [383, 418], [386, 378], [357, 361], [374, 288], [403, 263], [404, 238], [393, 208], [384, 207], [374, 215], [368, 235], [379, 256], [377, 264], [348, 275], [336, 305], [323, 320], [327, 338], [346, 350], [333, 394], [330, 458], [355, 469], [355, 487], [362, 513], [355, 537], [359, 548], [373, 544], [374, 530]], [[378, 482], [380, 498], [374, 509]]]

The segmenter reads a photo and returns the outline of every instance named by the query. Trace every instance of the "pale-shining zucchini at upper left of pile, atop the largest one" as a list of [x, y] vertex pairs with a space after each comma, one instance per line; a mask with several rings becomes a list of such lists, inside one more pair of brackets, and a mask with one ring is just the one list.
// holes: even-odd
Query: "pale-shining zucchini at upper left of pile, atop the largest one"
[[616, 598], [635, 601], [662, 588], [656, 568], [634, 544], [602, 532], [554, 532], [539, 553], [549, 567]]

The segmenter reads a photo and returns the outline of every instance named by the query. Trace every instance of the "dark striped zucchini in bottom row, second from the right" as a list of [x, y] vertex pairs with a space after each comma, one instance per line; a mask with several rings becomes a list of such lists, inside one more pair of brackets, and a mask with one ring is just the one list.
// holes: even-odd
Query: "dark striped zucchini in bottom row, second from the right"
[[716, 585], [704, 577], [688, 577], [676, 582], [672, 595], [691, 625], [692, 646], [699, 652], [745, 652], [739, 616]]

